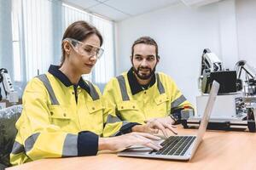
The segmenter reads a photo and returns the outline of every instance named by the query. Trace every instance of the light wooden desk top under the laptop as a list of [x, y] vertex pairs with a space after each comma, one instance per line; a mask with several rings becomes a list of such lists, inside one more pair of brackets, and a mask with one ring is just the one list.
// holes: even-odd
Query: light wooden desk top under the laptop
[[[179, 133], [195, 133], [179, 129]], [[207, 131], [192, 161], [167, 161], [119, 157], [111, 153], [98, 156], [44, 159], [32, 161], [15, 169], [172, 169], [172, 170], [254, 170], [256, 169], [256, 133]]]

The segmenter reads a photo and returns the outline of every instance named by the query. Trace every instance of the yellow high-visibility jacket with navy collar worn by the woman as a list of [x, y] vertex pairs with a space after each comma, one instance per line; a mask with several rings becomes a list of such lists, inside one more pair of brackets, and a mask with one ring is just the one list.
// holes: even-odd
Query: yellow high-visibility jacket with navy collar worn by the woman
[[58, 66], [51, 65], [48, 73], [27, 84], [22, 102], [10, 155], [13, 165], [46, 157], [96, 155], [105, 107], [96, 86], [81, 78], [74, 88]]

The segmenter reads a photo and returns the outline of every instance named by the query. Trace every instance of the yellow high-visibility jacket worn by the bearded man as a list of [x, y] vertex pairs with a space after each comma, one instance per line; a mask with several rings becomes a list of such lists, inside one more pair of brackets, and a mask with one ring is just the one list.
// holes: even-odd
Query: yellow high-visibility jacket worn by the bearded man
[[103, 98], [108, 100], [111, 111], [104, 135], [119, 133], [123, 122], [144, 124], [150, 118], [169, 116], [185, 105], [193, 108], [171, 77], [156, 73], [152, 80], [149, 88], [143, 89], [130, 70], [108, 82]]

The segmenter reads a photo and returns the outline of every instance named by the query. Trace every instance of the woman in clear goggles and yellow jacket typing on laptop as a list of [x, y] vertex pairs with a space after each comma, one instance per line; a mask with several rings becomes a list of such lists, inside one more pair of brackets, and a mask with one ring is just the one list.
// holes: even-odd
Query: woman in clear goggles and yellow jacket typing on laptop
[[102, 56], [102, 35], [84, 21], [68, 26], [62, 39], [61, 65], [32, 79], [23, 94], [23, 111], [10, 155], [13, 165], [46, 157], [94, 156], [98, 150], [119, 150], [143, 144], [160, 146], [148, 133], [101, 138], [107, 107], [96, 86], [84, 81]]

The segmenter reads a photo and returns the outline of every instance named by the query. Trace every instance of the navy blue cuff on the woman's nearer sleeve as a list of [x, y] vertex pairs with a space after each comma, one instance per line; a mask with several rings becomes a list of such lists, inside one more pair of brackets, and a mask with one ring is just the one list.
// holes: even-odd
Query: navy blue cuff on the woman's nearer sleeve
[[90, 131], [79, 132], [78, 156], [96, 156], [98, 152], [99, 136]]

